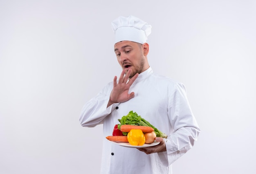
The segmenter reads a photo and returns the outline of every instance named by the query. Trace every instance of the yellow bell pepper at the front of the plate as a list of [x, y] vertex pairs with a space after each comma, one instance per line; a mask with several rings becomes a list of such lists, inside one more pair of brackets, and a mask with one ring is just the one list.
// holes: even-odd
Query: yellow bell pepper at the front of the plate
[[127, 139], [131, 145], [144, 145], [146, 140], [144, 133], [140, 129], [130, 130], [130, 132], [127, 134]]

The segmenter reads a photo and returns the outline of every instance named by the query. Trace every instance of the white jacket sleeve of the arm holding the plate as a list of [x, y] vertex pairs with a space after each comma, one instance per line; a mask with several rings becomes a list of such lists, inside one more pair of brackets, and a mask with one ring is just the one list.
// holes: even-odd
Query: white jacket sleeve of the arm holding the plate
[[159, 153], [160, 160], [166, 166], [171, 165], [190, 150], [200, 133], [186, 97], [185, 86], [176, 84], [174, 90], [169, 90], [169, 92], [168, 117], [172, 132], [166, 139], [166, 152]]

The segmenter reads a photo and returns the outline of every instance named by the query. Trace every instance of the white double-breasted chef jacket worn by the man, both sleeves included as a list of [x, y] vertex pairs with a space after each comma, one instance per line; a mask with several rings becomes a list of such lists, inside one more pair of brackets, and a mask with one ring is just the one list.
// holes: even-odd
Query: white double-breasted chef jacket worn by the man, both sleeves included
[[[150, 67], [140, 73], [130, 87], [129, 93], [135, 92], [134, 98], [107, 108], [112, 88], [113, 82], [110, 82], [88, 101], [79, 119], [84, 127], [103, 123], [101, 174], [171, 174], [171, 164], [193, 147], [200, 132], [184, 85], [154, 74]], [[145, 154], [106, 139], [112, 135], [118, 119], [131, 110], [168, 135], [166, 152]]]

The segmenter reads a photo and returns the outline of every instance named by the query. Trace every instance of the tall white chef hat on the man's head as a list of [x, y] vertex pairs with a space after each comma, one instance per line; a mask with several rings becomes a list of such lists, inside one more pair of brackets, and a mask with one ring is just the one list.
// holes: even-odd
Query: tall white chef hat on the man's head
[[151, 25], [135, 16], [120, 16], [112, 21], [115, 43], [128, 40], [144, 44], [151, 33]]

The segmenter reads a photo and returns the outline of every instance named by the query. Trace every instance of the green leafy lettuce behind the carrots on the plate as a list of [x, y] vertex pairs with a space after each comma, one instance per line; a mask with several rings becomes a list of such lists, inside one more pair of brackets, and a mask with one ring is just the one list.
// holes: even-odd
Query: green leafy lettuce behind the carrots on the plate
[[[120, 130], [121, 125], [129, 124], [129, 125], [137, 125], [137, 126], [150, 126], [154, 129], [155, 134], [157, 137], [167, 138], [167, 135], [155, 128], [152, 124], [150, 124], [145, 119], [141, 118], [136, 112], [132, 110], [128, 113], [128, 115], [123, 116], [121, 119], [118, 119], [120, 124], [118, 124], [118, 129]], [[124, 135], [127, 135], [128, 132], [123, 132]]]

